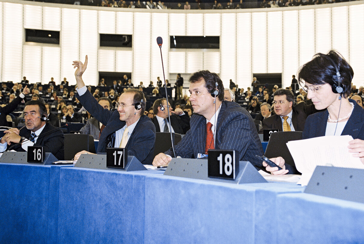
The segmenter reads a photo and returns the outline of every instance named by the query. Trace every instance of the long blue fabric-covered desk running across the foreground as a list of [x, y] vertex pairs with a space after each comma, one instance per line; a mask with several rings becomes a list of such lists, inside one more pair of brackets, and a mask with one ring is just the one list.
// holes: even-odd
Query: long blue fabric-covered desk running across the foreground
[[0, 164], [1, 243], [363, 243], [364, 204], [290, 183]]

